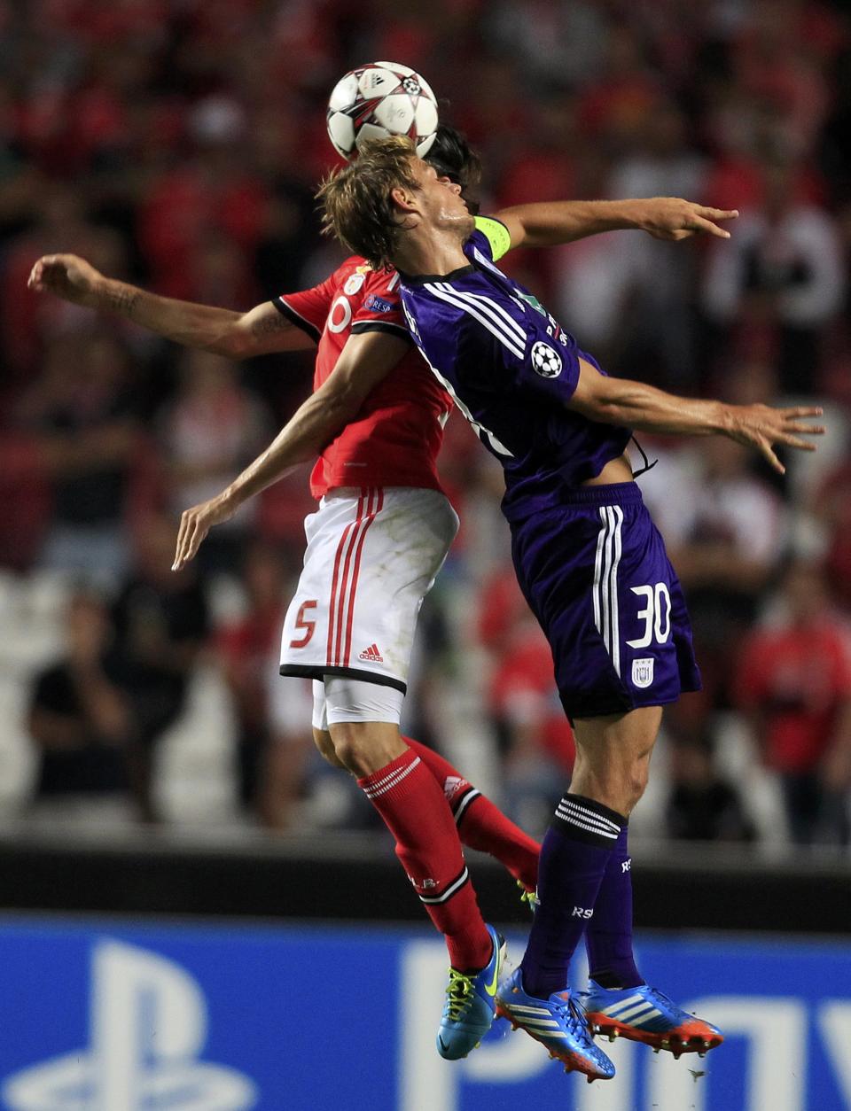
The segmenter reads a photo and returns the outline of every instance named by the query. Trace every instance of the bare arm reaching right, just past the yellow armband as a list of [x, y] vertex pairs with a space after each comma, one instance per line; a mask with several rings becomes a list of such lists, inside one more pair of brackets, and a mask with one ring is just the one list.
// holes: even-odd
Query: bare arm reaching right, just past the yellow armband
[[730, 232], [719, 220], [734, 220], [735, 209], [715, 209], [679, 197], [623, 201], [550, 201], [517, 204], [494, 213], [509, 230], [512, 247], [557, 247], [603, 231], [635, 229], [655, 239], [688, 239]]

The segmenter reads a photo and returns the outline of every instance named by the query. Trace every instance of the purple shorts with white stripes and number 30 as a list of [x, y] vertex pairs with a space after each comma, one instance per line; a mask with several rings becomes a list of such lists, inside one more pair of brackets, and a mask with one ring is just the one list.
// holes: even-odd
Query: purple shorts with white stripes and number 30
[[700, 690], [682, 590], [634, 482], [567, 492], [558, 509], [513, 522], [511, 534], [569, 718]]

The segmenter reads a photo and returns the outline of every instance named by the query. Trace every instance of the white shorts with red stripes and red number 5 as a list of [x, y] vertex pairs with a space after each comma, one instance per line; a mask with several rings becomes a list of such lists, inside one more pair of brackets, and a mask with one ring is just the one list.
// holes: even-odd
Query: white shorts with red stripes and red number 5
[[458, 516], [438, 490], [332, 490], [304, 521], [308, 548], [281, 638], [281, 674], [348, 675], [407, 690], [422, 600]]

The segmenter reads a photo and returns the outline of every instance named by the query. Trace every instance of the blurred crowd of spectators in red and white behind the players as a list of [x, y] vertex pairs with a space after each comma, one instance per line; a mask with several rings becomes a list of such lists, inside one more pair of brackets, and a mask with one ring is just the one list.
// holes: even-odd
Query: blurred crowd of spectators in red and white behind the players
[[[483, 211], [683, 196], [733, 238], [612, 233], [509, 268], [615, 374], [818, 401], [779, 478], [721, 439], [642, 437], [704, 690], [668, 711], [633, 828], [849, 845], [851, 21], [803, 0], [0, 0], [0, 818], [320, 830], [370, 808], [278, 677], [311, 510], [297, 473], [170, 563], [180, 511], [266, 446], [310, 356], [233, 364], [27, 289], [70, 251], [247, 309], [341, 258], [312, 193], [352, 66], [420, 70], [485, 167]], [[462, 531], [427, 600], [406, 727], [532, 832], [572, 759], [520, 598], [499, 468], [454, 414]], [[844, 848], [843, 848], [844, 847]]]

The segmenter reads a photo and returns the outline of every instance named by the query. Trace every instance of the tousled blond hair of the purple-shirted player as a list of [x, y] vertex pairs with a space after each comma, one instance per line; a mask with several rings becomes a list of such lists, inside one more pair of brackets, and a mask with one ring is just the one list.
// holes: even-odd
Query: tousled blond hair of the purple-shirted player
[[353, 162], [332, 170], [317, 192], [322, 230], [333, 234], [376, 269], [392, 269], [391, 258], [401, 227], [390, 193], [418, 190], [411, 159], [413, 143], [404, 136], [373, 139]]

